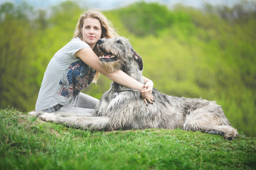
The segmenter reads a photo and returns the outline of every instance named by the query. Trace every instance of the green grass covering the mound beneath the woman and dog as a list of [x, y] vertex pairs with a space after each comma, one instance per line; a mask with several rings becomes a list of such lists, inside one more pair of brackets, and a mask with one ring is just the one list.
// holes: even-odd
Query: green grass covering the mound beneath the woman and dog
[[256, 139], [181, 129], [85, 131], [0, 110], [0, 169], [256, 169]]

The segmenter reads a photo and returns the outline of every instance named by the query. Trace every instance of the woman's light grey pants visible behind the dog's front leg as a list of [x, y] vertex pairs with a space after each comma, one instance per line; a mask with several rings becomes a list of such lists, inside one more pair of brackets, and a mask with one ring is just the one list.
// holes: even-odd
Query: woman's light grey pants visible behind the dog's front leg
[[98, 99], [80, 92], [79, 95], [73, 97], [73, 99], [61, 107], [59, 112], [90, 113], [95, 109], [97, 102]]

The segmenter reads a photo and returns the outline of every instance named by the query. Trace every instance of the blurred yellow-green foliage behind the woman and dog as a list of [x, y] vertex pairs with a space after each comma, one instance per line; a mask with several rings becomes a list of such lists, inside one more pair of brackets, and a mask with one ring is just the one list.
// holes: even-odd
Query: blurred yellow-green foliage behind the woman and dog
[[[241, 1], [232, 8], [169, 9], [138, 2], [103, 13], [143, 57], [143, 74], [159, 91], [216, 100], [234, 128], [255, 136], [255, 7]], [[72, 39], [86, 10], [71, 1], [51, 10], [1, 5], [1, 108], [34, 109], [49, 60]], [[100, 98], [109, 83], [101, 76], [84, 92]]]

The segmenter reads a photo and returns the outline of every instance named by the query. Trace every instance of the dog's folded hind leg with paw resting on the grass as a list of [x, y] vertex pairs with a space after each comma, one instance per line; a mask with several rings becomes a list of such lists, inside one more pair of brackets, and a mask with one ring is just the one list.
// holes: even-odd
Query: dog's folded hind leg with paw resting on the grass
[[198, 109], [185, 117], [183, 129], [188, 131], [204, 131], [210, 134], [223, 135], [225, 139], [234, 139], [237, 130], [230, 126], [225, 117]]

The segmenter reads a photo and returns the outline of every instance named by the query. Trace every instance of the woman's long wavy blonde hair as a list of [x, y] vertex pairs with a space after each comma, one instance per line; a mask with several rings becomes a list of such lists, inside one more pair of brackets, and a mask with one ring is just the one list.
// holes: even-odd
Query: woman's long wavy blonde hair
[[[115, 32], [115, 29], [112, 27], [110, 21], [106, 19], [106, 17], [99, 10], [88, 10], [87, 12], [85, 12], [85, 14], [82, 14], [80, 16], [80, 19], [76, 25], [76, 31], [74, 32], [73, 38], [79, 37], [81, 39], [82, 37], [81, 29], [84, 24], [84, 19], [86, 18], [95, 18], [99, 20], [99, 22], [101, 23], [101, 30], [102, 30], [101, 39], [102, 38], [109, 39], [109, 38], [118, 36], [117, 32]], [[97, 45], [94, 46], [93, 52], [96, 53], [97, 55], [100, 54], [100, 50], [97, 48]], [[96, 71], [96, 74], [92, 81], [93, 83], [97, 83], [99, 75], [100, 73]]]

